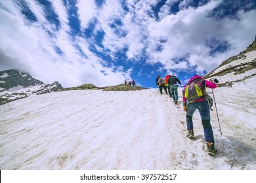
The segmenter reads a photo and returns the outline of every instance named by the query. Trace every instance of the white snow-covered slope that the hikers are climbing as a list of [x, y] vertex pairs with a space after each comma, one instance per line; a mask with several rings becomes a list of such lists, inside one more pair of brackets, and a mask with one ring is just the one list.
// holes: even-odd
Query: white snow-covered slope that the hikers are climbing
[[[255, 77], [214, 90], [217, 156], [157, 89], [45, 93], [0, 106], [0, 169], [256, 169]], [[211, 90], [207, 90], [212, 95]]]

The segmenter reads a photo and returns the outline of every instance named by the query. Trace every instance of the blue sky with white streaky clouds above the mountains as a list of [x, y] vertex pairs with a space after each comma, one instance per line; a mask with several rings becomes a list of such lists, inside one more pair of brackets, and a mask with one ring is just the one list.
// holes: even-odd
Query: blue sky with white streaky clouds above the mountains
[[64, 87], [186, 82], [245, 50], [255, 17], [251, 0], [1, 0], [0, 71]]

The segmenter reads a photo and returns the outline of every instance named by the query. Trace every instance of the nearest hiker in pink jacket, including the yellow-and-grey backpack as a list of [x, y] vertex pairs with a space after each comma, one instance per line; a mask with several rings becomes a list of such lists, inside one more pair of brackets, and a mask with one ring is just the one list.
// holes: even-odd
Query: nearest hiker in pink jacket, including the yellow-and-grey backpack
[[183, 93], [183, 110], [186, 111], [186, 126], [188, 129], [187, 137], [194, 138], [192, 116], [196, 109], [200, 112], [205, 142], [207, 144], [208, 154], [215, 156], [215, 141], [213, 137], [213, 129], [210, 123], [210, 108], [206, 101], [205, 87], [217, 88], [217, 84], [204, 80], [201, 76], [195, 75], [184, 86]]

